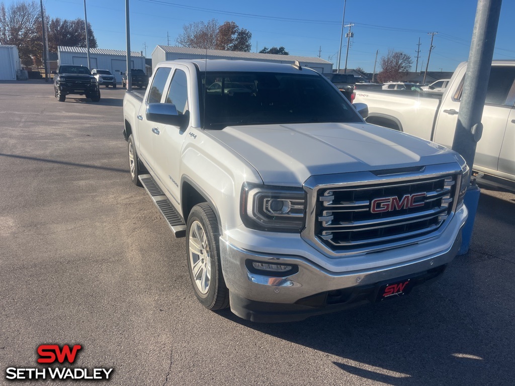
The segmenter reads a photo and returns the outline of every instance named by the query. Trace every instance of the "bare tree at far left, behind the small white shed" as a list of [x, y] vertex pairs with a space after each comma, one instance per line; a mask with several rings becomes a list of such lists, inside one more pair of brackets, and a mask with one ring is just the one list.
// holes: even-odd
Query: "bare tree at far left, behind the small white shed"
[[6, 7], [0, 3], [0, 44], [18, 47], [23, 64], [33, 63], [32, 57], [41, 57], [43, 44], [38, 34], [41, 13], [34, 0], [16, 2]]

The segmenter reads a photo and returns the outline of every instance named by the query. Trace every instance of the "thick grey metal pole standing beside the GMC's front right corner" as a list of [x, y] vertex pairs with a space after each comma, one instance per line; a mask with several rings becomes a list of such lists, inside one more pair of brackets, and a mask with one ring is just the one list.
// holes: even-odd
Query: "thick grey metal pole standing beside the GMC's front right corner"
[[487, 80], [490, 77], [501, 3], [502, 0], [477, 2], [467, 73], [452, 146], [453, 150], [464, 157], [471, 169], [474, 164], [476, 143], [483, 132], [481, 118], [485, 107]]

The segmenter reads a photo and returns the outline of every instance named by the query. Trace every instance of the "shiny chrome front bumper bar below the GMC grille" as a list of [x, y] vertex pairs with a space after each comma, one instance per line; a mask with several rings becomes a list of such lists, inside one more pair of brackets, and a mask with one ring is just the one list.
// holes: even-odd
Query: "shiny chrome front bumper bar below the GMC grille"
[[[336, 309], [350, 308], [340, 305], [340, 307], [321, 309], [318, 306], [313, 308], [300, 304], [306, 297], [316, 294], [346, 289], [359, 290], [362, 287], [376, 286], [385, 280], [417, 275], [437, 267], [444, 267], [454, 259], [460, 248], [461, 227], [466, 217], [466, 215], [463, 216], [458, 224], [454, 223], [454, 231], [448, 229], [448, 232], [445, 232], [447, 237], [454, 239], [452, 243], [448, 239], [450, 247], [447, 249], [397, 264], [347, 272], [331, 272], [300, 256], [248, 251], [220, 238], [222, 271], [230, 290], [231, 310], [239, 317], [248, 320], [285, 322], [303, 320], [311, 315]], [[411, 245], [397, 251], [399, 254], [406, 253], [403, 251], [405, 248], [416, 248], [420, 252], [424, 246], [423, 244]], [[267, 275], [266, 272], [256, 274], [255, 270], [250, 271], [247, 268], [248, 260], [293, 265], [298, 267], [298, 271], [295, 270], [296, 273], [282, 277]], [[443, 269], [441, 271], [443, 272]]]

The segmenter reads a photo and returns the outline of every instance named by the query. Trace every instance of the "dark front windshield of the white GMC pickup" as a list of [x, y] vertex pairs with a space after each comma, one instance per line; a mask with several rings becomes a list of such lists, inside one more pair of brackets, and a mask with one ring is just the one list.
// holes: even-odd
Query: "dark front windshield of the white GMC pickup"
[[345, 97], [320, 75], [236, 72], [205, 76], [201, 74], [199, 85], [205, 128], [362, 122]]

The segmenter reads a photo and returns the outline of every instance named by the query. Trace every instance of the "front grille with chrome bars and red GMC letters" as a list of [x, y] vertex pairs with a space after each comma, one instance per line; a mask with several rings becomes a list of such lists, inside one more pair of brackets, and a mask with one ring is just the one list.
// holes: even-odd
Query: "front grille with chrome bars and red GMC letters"
[[428, 235], [451, 215], [457, 182], [454, 173], [320, 188], [315, 238], [332, 251], [345, 252]]

